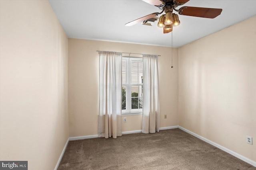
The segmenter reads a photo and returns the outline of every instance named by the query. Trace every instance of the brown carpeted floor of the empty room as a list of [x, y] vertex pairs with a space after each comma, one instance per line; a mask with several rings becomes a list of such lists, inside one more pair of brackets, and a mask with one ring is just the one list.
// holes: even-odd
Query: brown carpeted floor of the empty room
[[180, 130], [70, 141], [58, 170], [256, 170]]

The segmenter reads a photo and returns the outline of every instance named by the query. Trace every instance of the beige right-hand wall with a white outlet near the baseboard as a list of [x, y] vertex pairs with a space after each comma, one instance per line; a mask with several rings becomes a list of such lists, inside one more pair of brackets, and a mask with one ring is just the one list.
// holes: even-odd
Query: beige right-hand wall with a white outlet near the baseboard
[[179, 48], [179, 125], [256, 161], [256, 16]]

